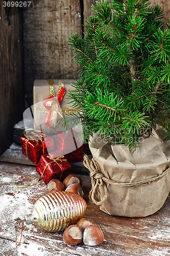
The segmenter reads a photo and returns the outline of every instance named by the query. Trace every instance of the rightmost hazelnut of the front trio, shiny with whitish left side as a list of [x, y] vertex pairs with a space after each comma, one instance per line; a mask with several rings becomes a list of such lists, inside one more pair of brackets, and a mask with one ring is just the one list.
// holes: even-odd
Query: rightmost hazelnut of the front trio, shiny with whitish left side
[[104, 234], [99, 226], [89, 225], [84, 229], [83, 242], [85, 245], [100, 245], [104, 240]]

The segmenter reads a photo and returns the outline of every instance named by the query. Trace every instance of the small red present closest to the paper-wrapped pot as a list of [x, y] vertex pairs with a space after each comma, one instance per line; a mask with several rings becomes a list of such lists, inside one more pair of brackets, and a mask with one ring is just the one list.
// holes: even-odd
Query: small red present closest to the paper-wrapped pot
[[78, 133], [69, 130], [67, 133], [56, 133], [57, 151], [56, 157], [64, 155], [69, 162], [82, 161], [84, 152], [84, 143], [81, 143], [78, 139]]

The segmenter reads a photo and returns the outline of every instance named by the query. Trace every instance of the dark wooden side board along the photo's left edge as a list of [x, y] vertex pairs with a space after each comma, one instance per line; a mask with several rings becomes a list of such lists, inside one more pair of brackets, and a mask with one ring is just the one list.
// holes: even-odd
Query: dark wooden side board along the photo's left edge
[[12, 142], [12, 128], [22, 117], [20, 15], [6, 16], [0, 3], [0, 154]]

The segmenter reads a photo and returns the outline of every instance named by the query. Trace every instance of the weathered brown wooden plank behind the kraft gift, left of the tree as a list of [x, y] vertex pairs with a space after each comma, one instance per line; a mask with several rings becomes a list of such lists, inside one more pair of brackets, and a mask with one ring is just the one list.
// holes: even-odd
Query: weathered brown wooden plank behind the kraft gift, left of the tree
[[71, 47], [72, 33], [82, 33], [79, 0], [41, 0], [23, 13], [25, 105], [32, 105], [35, 79], [75, 78], [79, 68]]

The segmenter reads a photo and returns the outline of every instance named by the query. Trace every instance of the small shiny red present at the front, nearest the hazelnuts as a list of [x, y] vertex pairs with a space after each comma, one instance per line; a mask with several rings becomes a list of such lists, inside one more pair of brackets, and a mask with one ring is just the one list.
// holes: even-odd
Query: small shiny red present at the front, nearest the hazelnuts
[[51, 153], [41, 156], [36, 171], [41, 175], [45, 184], [48, 184], [52, 179], [63, 181], [71, 167], [64, 156], [53, 158], [53, 153]]

